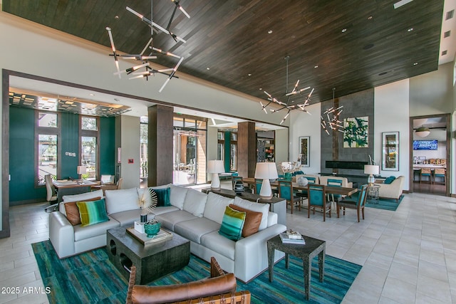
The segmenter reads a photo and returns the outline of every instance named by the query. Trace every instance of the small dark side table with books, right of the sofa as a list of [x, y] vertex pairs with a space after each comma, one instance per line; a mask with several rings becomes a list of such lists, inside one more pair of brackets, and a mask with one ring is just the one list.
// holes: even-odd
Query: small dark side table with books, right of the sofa
[[289, 267], [289, 254], [296, 256], [297, 258], [302, 258], [304, 266], [304, 291], [306, 293], [306, 300], [309, 300], [312, 259], [318, 255], [318, 273], [320, 282], [323, 282], [326, 241], [314, 239], [310, 236], [303, 236], [303, 238], [306, 241], [305, 245], [282, 243], [280, 236], [274, 236], [267, 241], [269, 281], [272, 282], [274, 277], [274, 250], [285, 253], [285, 266], [287, 269]]

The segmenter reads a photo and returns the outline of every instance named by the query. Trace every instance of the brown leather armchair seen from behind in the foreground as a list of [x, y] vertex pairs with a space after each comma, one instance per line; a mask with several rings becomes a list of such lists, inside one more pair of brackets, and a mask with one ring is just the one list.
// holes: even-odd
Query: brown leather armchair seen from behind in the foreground
[[[236, 292], [234, 273], [224, 273], [214, 257], [211, 276], [176, 285], [135, 285], [136, 267], [132, 266], [128, 282], [127, 304], [159, 303], [250, 303], [249, 291]], [[194, 300], [194, 301], [193, 301]]]

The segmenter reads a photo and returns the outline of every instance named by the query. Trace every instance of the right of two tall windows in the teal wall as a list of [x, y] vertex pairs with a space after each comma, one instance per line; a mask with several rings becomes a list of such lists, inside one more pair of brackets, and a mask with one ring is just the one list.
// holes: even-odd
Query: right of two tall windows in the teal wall
[[98, 117], [81, 116], [81, 165], [83, 179], [98, 179]]

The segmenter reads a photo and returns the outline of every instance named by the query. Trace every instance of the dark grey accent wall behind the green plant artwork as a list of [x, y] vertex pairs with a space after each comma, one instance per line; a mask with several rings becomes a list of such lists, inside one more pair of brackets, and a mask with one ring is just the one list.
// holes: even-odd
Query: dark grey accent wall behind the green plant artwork
[[[327, 135], [324, 130], [321, 130], [321, 172], [363, 175], [363, 169], [326, 168], [326, 161], [368, 162], [368, 155], [373, 157], [374, 91], [373, 89], [364, 90], [342, 96], [337, 101], [338, 105], [343, 105], [343, 112], [339, 117], [342, 122], [345, 118], [350, 117], [368, 117], [368, 147], [343, 147], [343, 132], [330, 131], [330, 135]], [[331, 107], [333, 107], [332, 99], [321, 103], [321, 112]]]

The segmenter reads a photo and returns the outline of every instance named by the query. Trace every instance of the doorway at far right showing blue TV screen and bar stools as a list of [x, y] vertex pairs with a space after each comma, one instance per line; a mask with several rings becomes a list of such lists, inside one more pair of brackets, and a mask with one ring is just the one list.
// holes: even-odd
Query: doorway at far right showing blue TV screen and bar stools
[[450, 196], [450, 114], [410, 117], [410, 192]]

